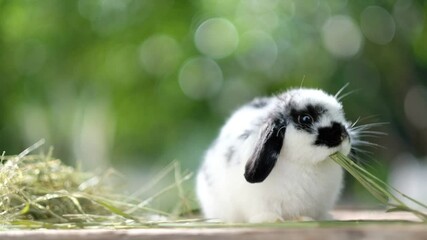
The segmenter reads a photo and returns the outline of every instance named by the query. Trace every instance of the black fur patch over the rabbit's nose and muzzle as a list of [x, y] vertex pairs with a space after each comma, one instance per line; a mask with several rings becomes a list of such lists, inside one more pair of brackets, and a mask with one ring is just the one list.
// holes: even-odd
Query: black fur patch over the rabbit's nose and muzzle
[[343, 125], [332, 122], [330, 127], [319, 128], [319, 134], [314, 144], [332, 148], [340, 145], [347, 136], [348, 133]]

